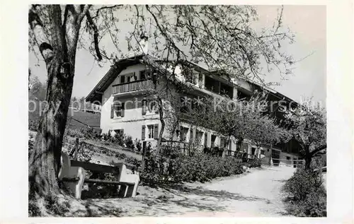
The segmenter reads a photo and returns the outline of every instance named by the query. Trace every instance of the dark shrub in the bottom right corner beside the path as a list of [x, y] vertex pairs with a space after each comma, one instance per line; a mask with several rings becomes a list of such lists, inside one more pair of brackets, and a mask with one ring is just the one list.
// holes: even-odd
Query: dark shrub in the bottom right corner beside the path
[[298, 168], [283, 187], [287, 194], [287, 211], [294, 216], [326, 216], [326, 189], [322, 174]]

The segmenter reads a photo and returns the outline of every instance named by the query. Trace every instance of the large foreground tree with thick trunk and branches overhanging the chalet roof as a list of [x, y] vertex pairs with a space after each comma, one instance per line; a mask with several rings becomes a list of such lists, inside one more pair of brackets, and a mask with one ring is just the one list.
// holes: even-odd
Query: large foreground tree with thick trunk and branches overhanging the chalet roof
[[[32, 5], [28, 10], [29, 41], [47, 67], [49, 107], [42, 115], [30, 156], [30, 192], [43, 196], [59, 191], [57, 175], [74, 83], [76, 49], [89, 48], [103, 62], [114, 63], [118, 57], [125, 57], [119, 45], [124, 38], [118, 35], [117, 16], [127, 11], [127, 20], [132, 23], [132, 31], [126, 37], [128, 53], [142, 52], [139, 40], [146, 39], [142, 31], [150, 28], [154, 58], [190, 59], [209, 69], [222, 69], [230, 78], [262, 81], [262, 60], [269, 65], [268, 69], [277, 68], [283, 76], [290, 73], [294, 62], [280, 47], [293, 40], [291, 33], [282, 28], [282, 10], [273, 28], [257, 33], [251, 28], [256, 10], [250, 6]], [[102, 40], [112, 40], [115, 49], [108, 52], [101, 46]], [[146, 53], [143, 51], [144, 56]], [[148, 58], [146, 62], [152, 63]]]

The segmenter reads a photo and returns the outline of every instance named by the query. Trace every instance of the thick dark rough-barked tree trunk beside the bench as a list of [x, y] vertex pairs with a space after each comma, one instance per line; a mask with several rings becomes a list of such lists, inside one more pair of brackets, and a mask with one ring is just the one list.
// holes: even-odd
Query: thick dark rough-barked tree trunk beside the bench
[[[59, 5], [46, 6], [50, 18], [50, 42], [35, 6], [30, 9], [29, 23], [47, 65], [47, 108], [40, 119], [33, 153], [28, 163], [30, 192], [40, 196], [59, 192], [62, 141], [72, 86], [79, 28], [87, 7], [67, 6], [62, 23]], [[79, 13], [81, 11], [81, 13]]]

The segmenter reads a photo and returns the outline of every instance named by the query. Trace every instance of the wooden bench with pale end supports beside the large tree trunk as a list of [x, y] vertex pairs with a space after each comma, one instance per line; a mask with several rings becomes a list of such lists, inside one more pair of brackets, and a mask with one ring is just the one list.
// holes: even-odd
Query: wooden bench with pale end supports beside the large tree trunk
[[[86, 170], [98, 173], [113, 173], [117, 175], [118, 181], [110, 181], [105, 179], [89, 179], [86, 177]], [[127, 173], [129, 169], [124, 163], [118, 166], [99, 165], [96, 163], [87, 163], [76, 160], [70, 160], [66, 153], [62, 153], [62, 168], [59, 172], [59, 179], [73, 191], [76, 199], [81, 198], [81, 191], [84, 183], [96, 184], [115, 184], [119, 188], [119, 196], [134, 197], [137, 194], [137, 186], [139, 184], [139, 173]]]

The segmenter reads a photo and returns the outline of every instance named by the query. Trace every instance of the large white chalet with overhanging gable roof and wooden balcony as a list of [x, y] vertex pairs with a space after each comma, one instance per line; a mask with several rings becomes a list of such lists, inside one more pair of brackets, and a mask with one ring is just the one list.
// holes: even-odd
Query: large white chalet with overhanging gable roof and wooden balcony
[[[187, 67], [188, 75], [184, 72]], [[169, 102], [166, 103], [168, 107], [164, 107], [163, 114], [164, 141], [169, 140], [180, 146], [193, 142], [201, 150], [217, 146], [224, 150], [224, 154], [233, 154], [236, 151], [236, 141], [229, 142], [227, 146], [225, 138], [217, 135], [215, 131], [190, 125], [185, 112], [193, 109], [193, 102], [181, 102], [186, 98], [198, 99], [206, 95], [220, 98], [227, 96], [229, 99], [249, 98], [255, 90], [262, 91], [264, 88], [241, 79], [228, 81], [217, 71], [207, 71], [188, 61], [178, 64], [173, 76], [171, 73], [173, 71], [166, 69], [163, 61], [149, 55], [142, 54], [115, 62], [86, 97], [86, 101], [102, 105], [100, 126], [103, 133], [111, 131], [111, 134], [127, 134], [133, 139], [141, 140], [143, 147], [148, 143], [156, 145], [161, 130], [161, 119], [156, 105], [157, 93], [162, 95], [162, 101]], [[296, 107], [296, 103], [285, 95], [270, 89], [266, 91], [269, 100], [283, 100]], [[278, 104], [273, 105], [272, 115], [282, 119], [283, 114], [277, 106]], [[180, 119], [176, 127], [176, 122], [173, 121], [177, 116]], [[245, 140], [241, 151], [251, 156], [256, 153], [256, 146]], [[268, 163], [267, 158], [270, 156], [274, 159], [272, 163], [278, 163], [279, 160], [287, 163], [286, 160], [299, 158], [298, 151], [298, 144], [290, 141], [272, 146], [271, 150], [269, 146], [264, 146], [256, 156], [264, 158], [265, 163]]]

